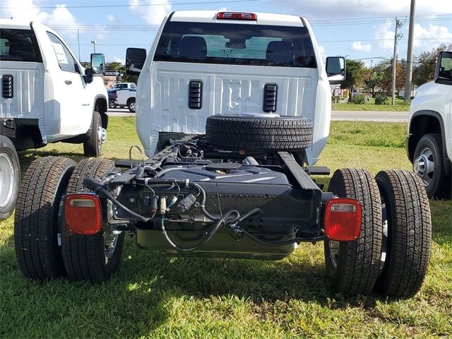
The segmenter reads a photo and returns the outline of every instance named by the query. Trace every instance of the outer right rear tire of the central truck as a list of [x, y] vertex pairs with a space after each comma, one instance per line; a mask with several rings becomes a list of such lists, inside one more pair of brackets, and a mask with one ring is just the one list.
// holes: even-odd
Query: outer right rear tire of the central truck
[[385, 297], [408, 298], [420, 289], [432, 245], [429, 200], [417, 174], [386, 170], [376, 174], [387, 220], [383, 266], [375, 291]]

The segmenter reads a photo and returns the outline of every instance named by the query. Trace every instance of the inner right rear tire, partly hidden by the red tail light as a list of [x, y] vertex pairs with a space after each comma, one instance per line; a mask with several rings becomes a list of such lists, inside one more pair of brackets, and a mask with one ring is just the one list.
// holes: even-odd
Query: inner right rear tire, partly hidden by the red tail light
[[369, 295], [379, 276], [382, 221], [381, 198], [375, 179], [364, 169], [338, 169], [328, 191], [353, 198], [362, 206], [359, 238], [352, 242], [324, 243], [326, 272], [333, 289], [347, 295]]

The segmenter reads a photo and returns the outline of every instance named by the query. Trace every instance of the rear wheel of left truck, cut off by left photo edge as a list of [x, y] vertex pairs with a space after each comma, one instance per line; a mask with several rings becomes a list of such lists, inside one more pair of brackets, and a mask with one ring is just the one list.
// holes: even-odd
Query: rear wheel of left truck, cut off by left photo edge
[[0, 136], [0, 220], [8, 218], [16, 206], [20, 185], [20, 163], [16, 148]]

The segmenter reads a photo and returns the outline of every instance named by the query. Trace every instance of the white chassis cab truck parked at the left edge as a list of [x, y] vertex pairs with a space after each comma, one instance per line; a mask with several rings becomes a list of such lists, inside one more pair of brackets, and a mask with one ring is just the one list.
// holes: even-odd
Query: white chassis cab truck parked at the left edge
[[[103, 55], [83, 69], [54, 30], [0, 19], [0, 218], [11, 214], [20, 170], [16, 150], [63, 141], [99, 156], [107, 134]], [[96, 64], [96, 65], [95, 65]]]

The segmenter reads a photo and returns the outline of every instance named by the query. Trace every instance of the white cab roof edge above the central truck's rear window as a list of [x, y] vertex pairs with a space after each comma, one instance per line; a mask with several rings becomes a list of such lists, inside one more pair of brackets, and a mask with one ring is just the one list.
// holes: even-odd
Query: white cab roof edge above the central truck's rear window
[[[253, 13], [257, 20], [228, 20], [217, 19], [220, 12]], [[255, 11], [176, 11], [170, 14], [169, 21], [185, 21], [196, 23], [239, 23], [250, 25], [278, 25], [278, 26], [304, 26], [304, 18], [287, 16], [285, 14], [261, 13]]]

